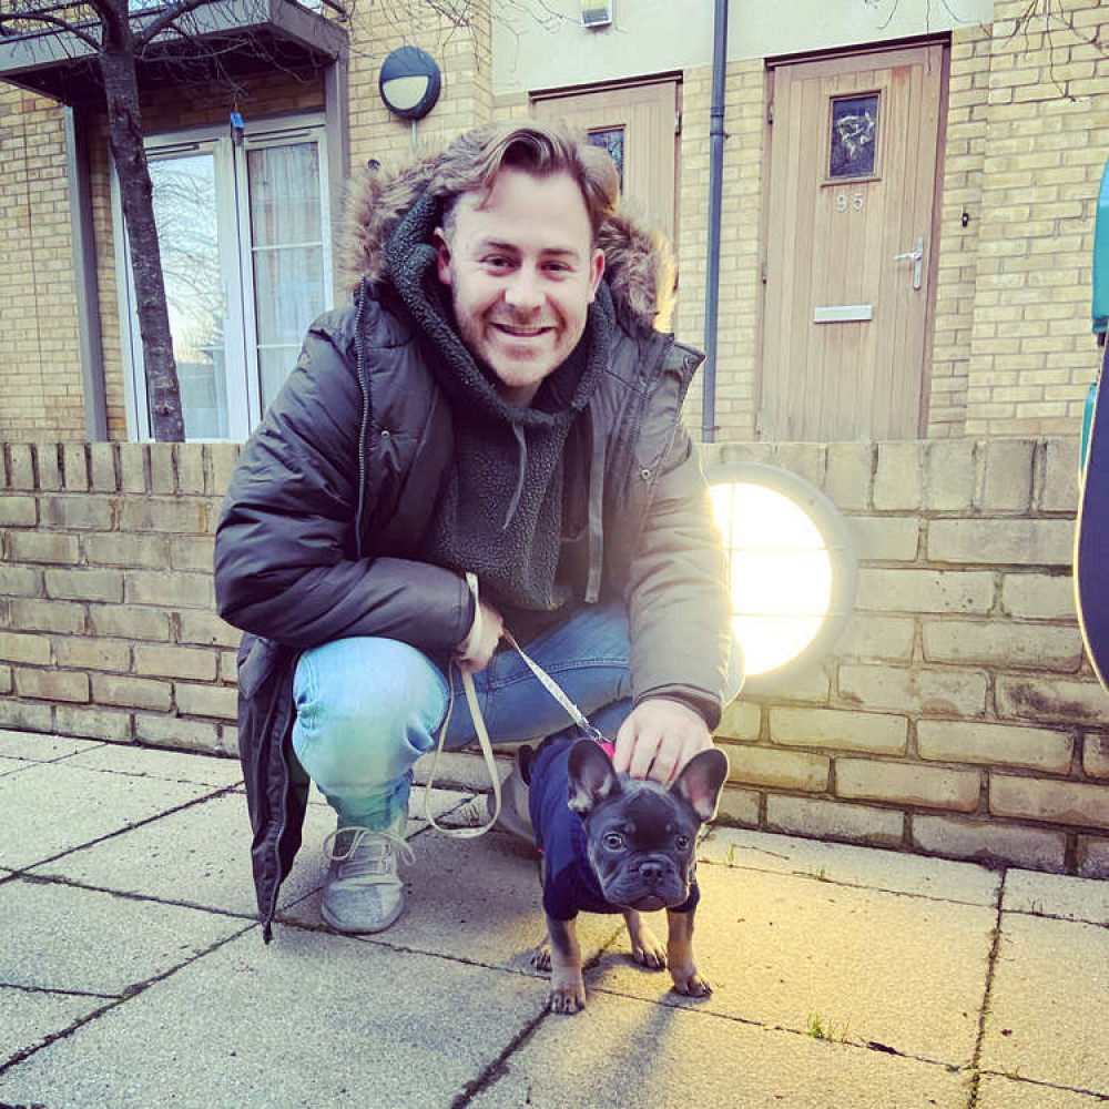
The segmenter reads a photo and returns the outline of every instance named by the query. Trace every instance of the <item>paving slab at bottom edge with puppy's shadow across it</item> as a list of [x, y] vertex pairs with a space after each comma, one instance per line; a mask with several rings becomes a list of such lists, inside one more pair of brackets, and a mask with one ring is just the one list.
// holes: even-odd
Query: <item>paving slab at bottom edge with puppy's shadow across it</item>
[[474, 1109], [918, 1109], [966, 1106], [935, 1064], [627, 998], [548, 1016]]

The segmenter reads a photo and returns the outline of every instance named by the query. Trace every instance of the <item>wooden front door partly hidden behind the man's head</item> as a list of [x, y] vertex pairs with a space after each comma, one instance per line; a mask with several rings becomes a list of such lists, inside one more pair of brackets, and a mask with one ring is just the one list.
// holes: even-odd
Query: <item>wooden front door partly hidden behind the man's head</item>
[[621, 204], [673, 243], [679, 95], [678, 82], [667, 78], [589, 92], [536, 93], [531, 111], [537, 119], [588, 131], [620, 170]]

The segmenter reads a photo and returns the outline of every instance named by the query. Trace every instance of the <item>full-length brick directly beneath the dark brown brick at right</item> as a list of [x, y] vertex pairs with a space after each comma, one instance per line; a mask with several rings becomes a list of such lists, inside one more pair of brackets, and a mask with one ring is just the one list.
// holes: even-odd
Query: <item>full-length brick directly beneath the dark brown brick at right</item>
[[1074, 739], [1046, 728], [1017, 728], [985, 721], [922, 720], [916, 729], [922, 759], [942, 762], [1027, 766], [1066, 774]]

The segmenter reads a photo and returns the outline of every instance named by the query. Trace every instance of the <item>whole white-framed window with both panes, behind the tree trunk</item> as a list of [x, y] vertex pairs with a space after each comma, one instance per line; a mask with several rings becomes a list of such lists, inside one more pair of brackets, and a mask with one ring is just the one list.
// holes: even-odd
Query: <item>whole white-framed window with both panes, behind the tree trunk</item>
[[[245, 439], [332, 304], [323, 126], [199, 132], [147, 142], [187, 439]], [[120, 204], [116, 190], [116, 227]], [[125, 236], [118, 260], [129, 425], [151, 419]]]

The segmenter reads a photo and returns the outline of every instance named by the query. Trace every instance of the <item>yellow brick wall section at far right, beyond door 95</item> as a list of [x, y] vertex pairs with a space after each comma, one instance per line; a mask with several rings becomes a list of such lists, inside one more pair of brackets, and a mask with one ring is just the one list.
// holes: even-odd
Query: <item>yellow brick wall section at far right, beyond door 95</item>
[[[1050, 10], [1020, 23], [1026, 0], [994, 6], [967, 435], [1076, 431], [1097, 365], [1090, 263], [1109, 156], [1109, 7]], [[1097, 35], [1101, 45], [1083, 42]]]

